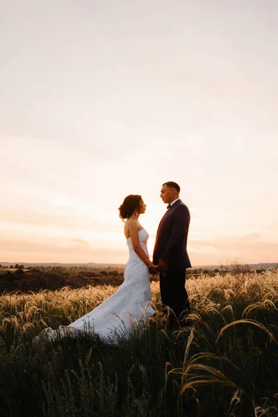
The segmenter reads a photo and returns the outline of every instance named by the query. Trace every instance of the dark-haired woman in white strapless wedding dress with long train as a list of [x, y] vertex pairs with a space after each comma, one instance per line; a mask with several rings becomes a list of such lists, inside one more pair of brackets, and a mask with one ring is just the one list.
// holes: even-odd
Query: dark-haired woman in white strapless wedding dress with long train
[[120, 218], [125, 221], [124, 235], [129, 247], [123, 284], [90, 313], [68, 326], [60, 326], [58, 330], [47, 327], [35, 337], [35, 341], [41, 336], [54, 341], [63, 336], [98, 334], [108, 343], [117, 343], [122, 336], [128, 336], [134, 327], [144, 325], [149, 317], [154, 316], [149, 270], [154, 273], [158, 266], [149, 260], [149, 234], [138, 221], [140, 214], [145, 211], [146, 204], [140, 195], [128, 195], [119, 207]]

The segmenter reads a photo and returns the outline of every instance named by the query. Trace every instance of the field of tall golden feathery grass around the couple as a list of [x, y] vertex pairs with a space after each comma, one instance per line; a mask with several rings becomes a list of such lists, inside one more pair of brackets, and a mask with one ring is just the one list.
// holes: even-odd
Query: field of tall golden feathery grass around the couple
[[151, 287], [156, 319], [117, 346], [32, 345], [115, 287], [2, 296], [0, 416], [277, 417], [278, 270], [188, 279], [192, 327], [170, 329]]

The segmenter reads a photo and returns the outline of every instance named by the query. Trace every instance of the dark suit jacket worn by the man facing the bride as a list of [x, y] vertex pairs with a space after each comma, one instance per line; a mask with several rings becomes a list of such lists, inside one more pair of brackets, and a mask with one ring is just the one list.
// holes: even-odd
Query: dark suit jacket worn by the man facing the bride
[[153, 256], [155, 264], [161, 259], [168, 265], [191, 268], [186, 249], [189, 223], [188, 206], [179, 199], [167, 209], [158, 225]]

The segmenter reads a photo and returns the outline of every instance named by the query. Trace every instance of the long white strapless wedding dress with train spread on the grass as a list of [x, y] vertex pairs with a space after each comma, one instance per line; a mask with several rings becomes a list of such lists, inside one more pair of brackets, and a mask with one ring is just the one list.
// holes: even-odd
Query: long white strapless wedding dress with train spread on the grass
[[[149, 234], [145, 229], [140, 229], [138, 237], [142, 249], [149, 256]], [[128, 238], [126, 243], [129, 247], [129, 261], [124, 268], [124, 282], [117, 291], [70, 325], [60, 326], [58, 330], [47, 327], [35, 337], [35, 341], [41, 336], [54, 341], [59, 337], [77, 337], [85, 333], [92, 336], [98, 334], [108, 343], [117, 343], [119, 338], [129, 336], [136, 326], [145, 325], [149, 317], [154, 316], [148, 267], [134, 252], [131, 238]]]

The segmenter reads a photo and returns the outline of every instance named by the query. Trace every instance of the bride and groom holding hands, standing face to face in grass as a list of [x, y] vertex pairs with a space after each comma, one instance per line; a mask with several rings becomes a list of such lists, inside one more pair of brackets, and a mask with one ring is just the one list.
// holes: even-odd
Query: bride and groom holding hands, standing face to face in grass
[[163, 183], [161, 199], [167, 211], [158, 224], [153, 261], [147, 251], [149, 234], [138, 218], [145, 213], [146, 204], [140, 195], [128, 195], [119, 207], [124, 220], [124, 235], [129, 247], [129, 261], [124, 269], [124, 282], [107, 300], [67, 326], [58, 330], [47, 327], [39, 336], [54, 341], [60, 336], [98, 334], [107, 343], [117, 343], [126, 337], [134, 325], [145, 325], [154, 316], [149, 272], [159, 272], [163, 312], [169, 320], [186, 323], [190, 313], [188, 294], [185, 288], [186, 268], [190, 260], [186, 250], [190, 213], [179, 199], [180, 187], [173, 181]]

